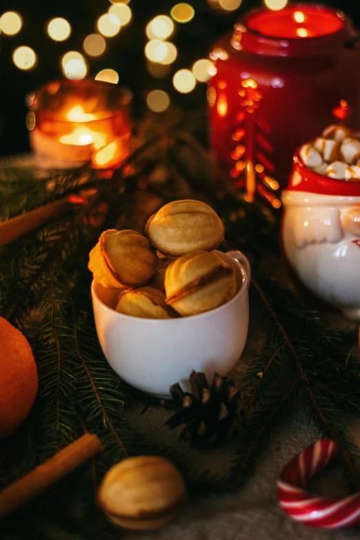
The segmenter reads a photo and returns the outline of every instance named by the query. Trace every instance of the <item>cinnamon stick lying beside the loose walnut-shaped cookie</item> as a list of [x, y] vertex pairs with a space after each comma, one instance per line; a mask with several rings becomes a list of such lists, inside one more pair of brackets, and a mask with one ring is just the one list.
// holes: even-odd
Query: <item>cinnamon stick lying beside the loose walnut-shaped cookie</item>
[[43, 492], [81, 463], [102, 450], [95, 434], [86, 433], [42, 465], [0, 492], [0, 519]]

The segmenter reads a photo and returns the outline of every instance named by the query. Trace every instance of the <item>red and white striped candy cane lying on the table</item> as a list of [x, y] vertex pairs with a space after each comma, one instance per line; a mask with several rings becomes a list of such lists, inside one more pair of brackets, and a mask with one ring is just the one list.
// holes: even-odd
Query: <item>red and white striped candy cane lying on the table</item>
[[308, 481], [336, 454], [336, 444], [322, 439], [308, 446], [283, 468], [277, 482], [277, 498], [292, 519], [326, 529], [360, 523], [360, 492], [344, 499], [327, 499], [306, 491]]

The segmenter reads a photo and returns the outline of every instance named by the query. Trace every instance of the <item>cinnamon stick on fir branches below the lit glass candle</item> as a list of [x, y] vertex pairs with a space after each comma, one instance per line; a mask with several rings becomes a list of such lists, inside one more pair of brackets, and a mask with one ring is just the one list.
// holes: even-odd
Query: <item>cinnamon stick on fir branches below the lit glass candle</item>
[[52, 217], [69, 212], [72, 208], [74, 208], [74, 205], [64, 197], [54, 203], [48, 203], [41, 206], [41, 208], [30, 210], [20, 216], [8, 219], [8, 221], [3, 221], [3, 223], [0, 223], [0, 247], [21, 238], [23, 234], [40, 227]]

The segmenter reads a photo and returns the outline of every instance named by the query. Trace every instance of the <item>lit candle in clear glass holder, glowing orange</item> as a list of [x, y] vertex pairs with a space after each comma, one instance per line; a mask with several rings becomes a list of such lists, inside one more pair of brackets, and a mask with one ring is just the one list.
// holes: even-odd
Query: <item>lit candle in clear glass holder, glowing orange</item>
[[116, 168], [130, 150], [132, 92], [85, 79], [52, 81], [28, 96], [30, 146], [39, 157]]

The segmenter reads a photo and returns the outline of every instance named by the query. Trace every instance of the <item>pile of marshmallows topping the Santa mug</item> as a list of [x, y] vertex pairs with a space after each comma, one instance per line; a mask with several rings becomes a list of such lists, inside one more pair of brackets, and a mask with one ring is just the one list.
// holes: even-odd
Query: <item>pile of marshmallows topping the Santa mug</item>
[[303, 144], [299, 154], [306, 167], [319, 174], [360, 181], [360, 140], [345, 126], [329, 126], [314, 143]]

